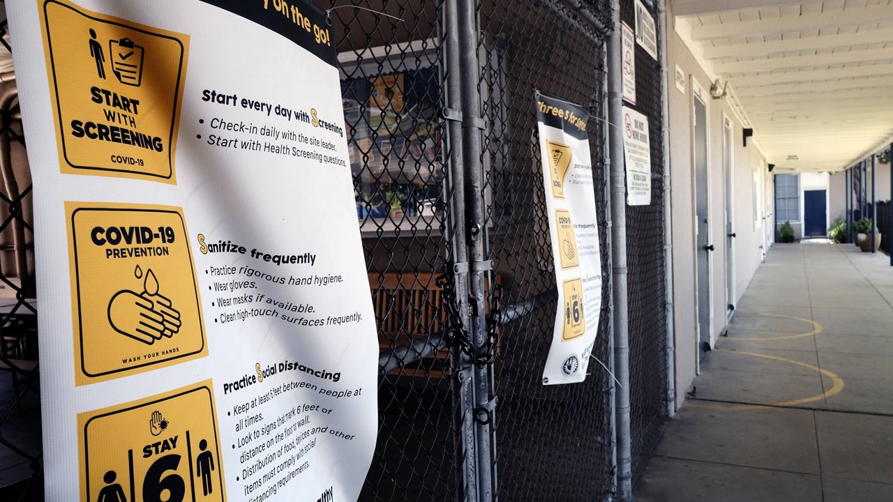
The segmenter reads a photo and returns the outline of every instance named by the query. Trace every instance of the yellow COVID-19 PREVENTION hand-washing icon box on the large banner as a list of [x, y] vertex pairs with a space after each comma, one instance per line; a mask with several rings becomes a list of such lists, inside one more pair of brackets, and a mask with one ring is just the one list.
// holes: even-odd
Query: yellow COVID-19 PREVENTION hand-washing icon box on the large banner
[[207, 355], [182, 209], [65, 203], [75, 383]]

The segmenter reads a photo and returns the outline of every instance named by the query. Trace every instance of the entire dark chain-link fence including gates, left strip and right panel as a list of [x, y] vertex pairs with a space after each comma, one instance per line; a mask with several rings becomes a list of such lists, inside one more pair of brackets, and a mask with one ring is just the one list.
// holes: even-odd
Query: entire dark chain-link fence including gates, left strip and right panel
[[[562, 96], [592, 116], [587, 130], [603, 272], [593, 356], [610, 364], [610, 11], [605, 0], [469, 4], [477, 25], [464, 30], [455, 26], [462, 13], [445, 0], [320, 5], [332, 8], [357, 221], [380, 342], [378, 442], [361, 499], [464, 500], [480, 490], [480, 470], [494, 499], [604, 500], [613, 490], [610, 375], [601, 364], [589, 364], [584, 383], [541, 381], [557, 296], [543, 237], [548, 223], [534, 91]], [[631, 23], [631, 2], [623, 4], [623, 19]], [[474, 57], [456, 54], [463, 33], [473, 34]], [[656, 140], [661, 72], [649, 57], [638, 49], [637, 109], [649, 117], [655, 138], [652, 204], [627, 213], [637, 458], [653, 446], [665, 418], [663, 152]], [[457, 92], [460, 74], [475, 77], [474, 92]], [[482, 121], [456, 115], [463, 100], [480, 106]], [[13, 378], [0, 386], [9, 392], [0, 409], [0, 444], [9, 451], [0, 451], [0, 458], [2, 467], [21, 471], [4, 481], [22, 481], [0, 491], [0, 499], [40, 499], [30, 180], [21, 117], [14, 99], [3, 104], [0, 143], [12, 146], [14, 162], [6, 162], [10, 149], [0, 144], [0, 281], [13, 293], [0, 310], [0, 364]], [[469, 127], [481, 142], [472, 163], [463, 162]], [[480, 176], [480, 187], [470, 184], [472, 174]], [[478, 220], [472, 218], [476, 206], [482, 209]], [[469, 255], [474, 238], [483, 248], [476, 265]], [[485, 271], [480, 284], [469, 279], [474, 270]], [[486, 324], [482, 347], [470, 334], [476, 317]], [[486, 402], [475, 397], [473, 385], [486, 388]], [[21, 438], [26, 446], [16, 442]], [[5, 462], [11, 455], [16, 463]]]

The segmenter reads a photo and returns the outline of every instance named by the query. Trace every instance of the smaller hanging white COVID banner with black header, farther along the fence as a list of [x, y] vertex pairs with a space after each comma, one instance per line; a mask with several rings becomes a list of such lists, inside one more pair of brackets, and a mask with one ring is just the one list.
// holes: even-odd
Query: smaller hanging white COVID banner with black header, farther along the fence
[[558, 306], [543, 383], [586, 380], [602, 304], [596, 193], [586, 126], [589, 113], [538, 92], [537, 131]]

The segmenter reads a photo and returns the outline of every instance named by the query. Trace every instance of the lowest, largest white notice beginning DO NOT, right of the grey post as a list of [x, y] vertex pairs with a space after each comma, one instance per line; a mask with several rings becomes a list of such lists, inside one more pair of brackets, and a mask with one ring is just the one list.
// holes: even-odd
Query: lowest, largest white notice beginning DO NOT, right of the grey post
[[623, 107], [623, 157], [626, 159], [626, 202], [651, 204], [651, 142], [648, 118]]

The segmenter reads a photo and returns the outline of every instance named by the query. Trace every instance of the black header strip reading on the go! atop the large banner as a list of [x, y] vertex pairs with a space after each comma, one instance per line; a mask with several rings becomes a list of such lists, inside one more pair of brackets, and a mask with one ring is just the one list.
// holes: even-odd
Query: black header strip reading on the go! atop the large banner
[[[255, 21], [302, 46], [322, 61], [338, 66], [338, 51], [326, 14], [309, 0], [202, 0]], [[239, 37], [239, 33], [233, 33]]]

